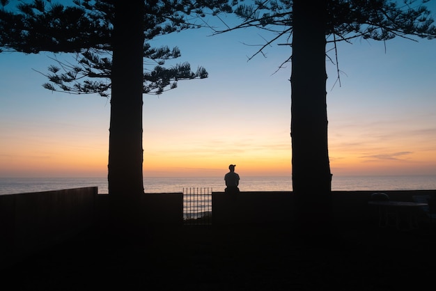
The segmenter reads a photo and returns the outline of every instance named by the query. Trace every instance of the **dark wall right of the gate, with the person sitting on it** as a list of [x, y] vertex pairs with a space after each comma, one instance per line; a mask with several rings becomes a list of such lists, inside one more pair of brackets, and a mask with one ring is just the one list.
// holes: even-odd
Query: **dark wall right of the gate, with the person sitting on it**
[[[377, 219], [377, 208], [368, 205], [374, 191], [332, 191], [332, 214], [338, 223]], [[412, 201], [413, 195], [436, 194], [435, 190], [384, 191], [391, 200]], [[293, 193], [212, 193], [212, 223], [292, 222]]]

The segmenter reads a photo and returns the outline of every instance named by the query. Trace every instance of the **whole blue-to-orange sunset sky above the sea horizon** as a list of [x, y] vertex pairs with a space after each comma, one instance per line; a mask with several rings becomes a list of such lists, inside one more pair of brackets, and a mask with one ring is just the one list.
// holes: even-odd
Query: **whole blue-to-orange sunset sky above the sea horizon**
[[[196, 29], [153, 42], [177, 45], [177, 62], [210, 75], [144, 95], [144, 177], [220, 176], [228, 164], [240, 175], [290, 175], [290, 63], [274, 74], [290, 48], [272, 45], [247, 61], [265, 32], [210, 34]], [[334, 175], [436, 175], [435, 52], [436, 40], [338, 45], [341, 86], [327, 62]], [[47, 80], [36, 70], [47, 72], [49, 57], [0, 54], [0, 177], [104, 177], [109, 100], [42, 88]]]

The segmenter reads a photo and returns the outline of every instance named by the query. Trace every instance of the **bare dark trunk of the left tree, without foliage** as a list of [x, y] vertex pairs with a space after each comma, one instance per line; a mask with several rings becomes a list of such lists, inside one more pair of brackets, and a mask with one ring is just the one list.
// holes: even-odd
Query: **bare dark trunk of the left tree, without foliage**
[[134, 221], [143, 194], [143, 1], [115, 1], [108, 182], [115, 220]]

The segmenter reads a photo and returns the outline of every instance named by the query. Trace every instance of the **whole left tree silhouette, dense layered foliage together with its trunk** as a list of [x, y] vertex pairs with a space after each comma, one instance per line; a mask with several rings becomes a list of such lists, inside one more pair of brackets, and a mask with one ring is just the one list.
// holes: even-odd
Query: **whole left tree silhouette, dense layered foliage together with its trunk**
[[[33, 0], [6, 9], [8, 2], [1, 1], [0, 49], [74, 54], [72, 63], [54, 58], [56, 64], [45, 74], [49, 82], [44, 87], [110, 95], [109, 194], [143, 193], [143, 93], [161, 94], [176, 88], [179, 80], [208, 77], [202, 67], [193, 72], [189, 63], [165, 68], [166, 61], [180, 57], [179, 49], [155, 48], [149, 41], [197, 27], [189, 24], [187, 15], [203, 1], [73, 0], [66, 6]], [[224, 0], [207, 2], [228, 11]]]

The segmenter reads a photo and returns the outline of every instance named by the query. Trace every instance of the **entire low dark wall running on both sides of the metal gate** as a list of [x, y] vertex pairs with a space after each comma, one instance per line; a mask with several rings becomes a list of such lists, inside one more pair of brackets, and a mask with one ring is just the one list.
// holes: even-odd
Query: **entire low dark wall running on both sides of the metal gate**
[[[436, 194], [435, 190], [384, 191], [391, 200], [412, 201], [413, 195]], [[368, 205], [373, 191], [333, 191], [332, 210], [338, 223], [377, 218]], [[0, 196], [0, 269], [26, 255], [62, 242], [80, 231], [107, 223], [109, 195], [97, 187]], [[181, 193], [144, 194], [141, 199], [144, 226], [182, 226]], [[292, 222], [292, 192], [241, 192], [232, 196], [212, 193], [212, 223]]]

